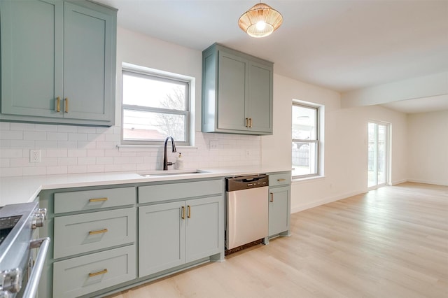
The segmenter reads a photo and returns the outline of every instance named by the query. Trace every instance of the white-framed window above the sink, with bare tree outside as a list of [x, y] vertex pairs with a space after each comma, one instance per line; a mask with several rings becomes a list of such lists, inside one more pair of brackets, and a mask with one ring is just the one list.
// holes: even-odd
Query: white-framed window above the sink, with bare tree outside
[[193, 78], [123, 64], [122, 143], [162, 145], [172, 136], [190, 145], [190, 90]]

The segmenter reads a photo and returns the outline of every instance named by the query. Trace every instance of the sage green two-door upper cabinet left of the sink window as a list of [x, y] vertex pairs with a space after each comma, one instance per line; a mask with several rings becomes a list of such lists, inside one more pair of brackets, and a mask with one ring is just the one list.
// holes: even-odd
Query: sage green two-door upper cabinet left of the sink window
[[0, 120], [113, 125], [116, 10], [2, 0], [0, 22]]

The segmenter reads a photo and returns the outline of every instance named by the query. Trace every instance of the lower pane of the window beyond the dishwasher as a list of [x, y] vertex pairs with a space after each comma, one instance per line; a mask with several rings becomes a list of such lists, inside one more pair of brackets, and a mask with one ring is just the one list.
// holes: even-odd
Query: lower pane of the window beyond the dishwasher
[[317, 144], [293, 142], [293, 176], [317, 174]]

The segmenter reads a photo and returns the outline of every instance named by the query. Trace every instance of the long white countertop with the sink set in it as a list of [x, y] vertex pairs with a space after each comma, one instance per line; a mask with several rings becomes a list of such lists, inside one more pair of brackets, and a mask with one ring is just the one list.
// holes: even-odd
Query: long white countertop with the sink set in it
[[[41, 190], [52, 190], [66, 187], [85, 187], [99, 185], [118, 185], [126, 183], [144, 183], [194, 178], [211, 178], [224, 176], [240, 176], [255, 173], [274, 173], [290, 171], [284, 167], [244, 166], [220, 169], [201, 169], [201, 173], [185, 173], [189, 170], [148, 171], [151, 176], [139, 173], [83, 173], [48, 176], [20, 176], [0, 178], [0, 206], [34, 201]], [[191, 170], [190, 170], [191, 171]], [[158, 176], [165, 173], [165, 176]], [[166, 175], [169, 173], [170, 175]]]

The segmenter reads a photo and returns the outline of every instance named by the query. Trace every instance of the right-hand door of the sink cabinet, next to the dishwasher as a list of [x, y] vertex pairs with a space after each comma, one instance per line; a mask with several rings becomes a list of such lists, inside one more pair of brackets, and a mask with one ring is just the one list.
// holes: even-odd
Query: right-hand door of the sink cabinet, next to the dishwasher
[[222, 206], [221, 196], [186, 201], [186, 262], [221, 252]]

